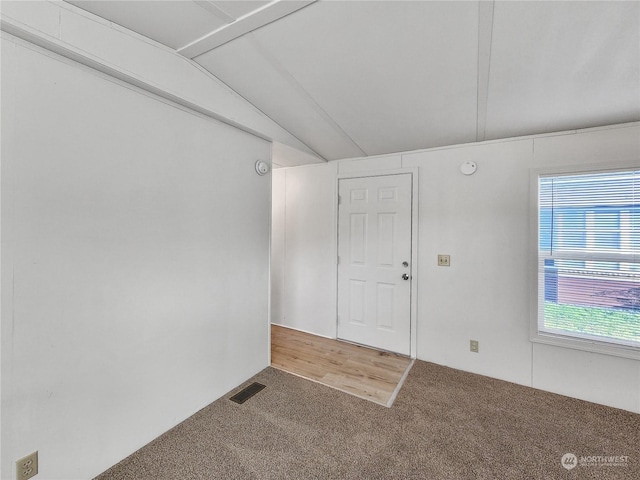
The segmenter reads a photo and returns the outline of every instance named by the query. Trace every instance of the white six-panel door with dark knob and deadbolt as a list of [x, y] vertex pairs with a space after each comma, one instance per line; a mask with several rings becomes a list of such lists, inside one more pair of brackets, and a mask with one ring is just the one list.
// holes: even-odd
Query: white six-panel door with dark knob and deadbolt
[[411, 174], [338, 190], [338, 338], [409, 355]]

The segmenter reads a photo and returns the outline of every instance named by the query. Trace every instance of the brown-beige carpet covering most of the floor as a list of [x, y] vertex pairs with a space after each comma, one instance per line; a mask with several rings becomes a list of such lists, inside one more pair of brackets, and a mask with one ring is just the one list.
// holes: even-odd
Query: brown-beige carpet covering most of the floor
[[[228, 400], [253, 381], [266, 388]], [[237, 390], [97, 478], [640, 478], [640, 415], [431, 363], [391, 408], [272, 368]], [[628, 458], [567, 470], [566, 453]]]

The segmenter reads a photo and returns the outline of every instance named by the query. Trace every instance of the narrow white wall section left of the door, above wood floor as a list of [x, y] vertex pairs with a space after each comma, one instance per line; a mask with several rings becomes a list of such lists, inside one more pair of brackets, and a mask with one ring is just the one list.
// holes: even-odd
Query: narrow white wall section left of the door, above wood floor
[[336, 332], [336, 164], [274, 171], [272, 322]]

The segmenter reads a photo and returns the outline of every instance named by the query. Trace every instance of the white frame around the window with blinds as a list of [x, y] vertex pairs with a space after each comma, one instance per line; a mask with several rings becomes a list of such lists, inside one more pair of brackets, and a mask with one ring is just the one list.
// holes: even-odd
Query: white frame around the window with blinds
[[[539, 321], [539, 289], [541, 280], [539, 277], [540, 250], [539, 250], [539, 186], [541, 177], [560, 175], [582, 175], [607, 172], [620, 172], [638, 170], [640, 161], [636, 162], [612, 162], [607, 164], [592, 165], [568, 165], [560, 167], [532, 168], [529, 170], [529, 194], [530, 194], [530, 228], [529, 228], [529, 252], [530, 252], [530, 340], [533, 343], [553, 345], [557, 347], [582, 350], [592, 353], [601, 353], [616, 357], [640, 360], [640, 347], [626, 346], [612, 342], [595, 339], [581, 338], [573, 335], [541, 332], [538, 330]], [[635, 255], [634, 255], [635, 256]], [[542, 280], [544, 282], [544, 279]], [[542, 283], [543, 284], [543, 283]]]

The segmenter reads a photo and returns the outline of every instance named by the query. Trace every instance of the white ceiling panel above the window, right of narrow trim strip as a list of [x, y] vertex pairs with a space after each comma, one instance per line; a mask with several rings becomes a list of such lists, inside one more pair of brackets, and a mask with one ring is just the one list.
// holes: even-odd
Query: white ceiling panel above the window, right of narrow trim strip
[[487, 138], [640, 120], [638, 2], [496, 2]]

